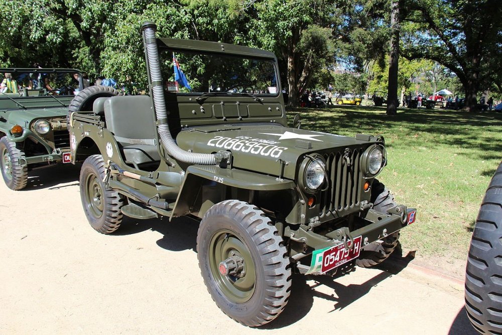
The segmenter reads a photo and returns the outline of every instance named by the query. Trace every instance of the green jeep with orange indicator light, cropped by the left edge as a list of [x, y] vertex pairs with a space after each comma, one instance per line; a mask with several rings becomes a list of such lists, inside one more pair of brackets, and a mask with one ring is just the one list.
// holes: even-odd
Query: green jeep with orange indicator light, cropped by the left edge
[[13, 83], [8, 93], [0, 92], [0, 168], [7, 186], [19, 190], [27, 184], [28, 169], [71, 161], [66, 115], [74, 92], [82, 89], [75, 79], [81, 74], [41, 68], [0, 68], [0, 73], [10, 73]]

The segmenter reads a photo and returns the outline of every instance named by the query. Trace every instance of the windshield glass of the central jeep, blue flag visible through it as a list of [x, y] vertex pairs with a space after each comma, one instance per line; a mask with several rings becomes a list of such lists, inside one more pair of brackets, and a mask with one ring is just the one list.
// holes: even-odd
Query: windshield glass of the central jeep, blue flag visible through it
[[162, 53], [167, 92], [277, 95], [273, 60], [221, 54]]

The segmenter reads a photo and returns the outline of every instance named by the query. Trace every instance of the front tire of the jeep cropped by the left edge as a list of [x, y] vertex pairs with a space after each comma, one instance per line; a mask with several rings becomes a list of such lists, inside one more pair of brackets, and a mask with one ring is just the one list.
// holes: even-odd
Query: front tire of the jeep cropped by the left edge
[[12, 190], [20, 190], [28, 183], [28, 167], [22, 165], [25, 154], [9, 141], [7, 136], [0, 139], [0, 169], [5, 184]]

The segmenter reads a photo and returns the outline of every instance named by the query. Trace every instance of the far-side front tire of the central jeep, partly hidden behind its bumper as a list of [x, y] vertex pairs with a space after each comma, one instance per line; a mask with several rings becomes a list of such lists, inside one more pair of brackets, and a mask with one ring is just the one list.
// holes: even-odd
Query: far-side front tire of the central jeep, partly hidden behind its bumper
[[[371, 199], [373, 209], [387, 213], [397, 205], [394, 195], [385, 188], [385, 185], [375, 179], [371, 185]], [[363, 247], [355, 264], [362, 268], [369, 268], [385, 261], [394, 252], [399, 243], [399, 232], [386, 236], [382, 242], [373, 242]]]

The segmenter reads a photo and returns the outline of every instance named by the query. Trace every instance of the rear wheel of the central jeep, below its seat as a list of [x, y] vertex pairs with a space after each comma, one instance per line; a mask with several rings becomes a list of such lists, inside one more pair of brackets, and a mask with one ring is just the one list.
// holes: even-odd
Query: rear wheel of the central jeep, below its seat
[[123, 197], [105, 188], [104, 176], [103, 157], [87, 157], [80, 169], [80, 198], [91, 227], [101, 234], [110, 234], [122, 223]]

